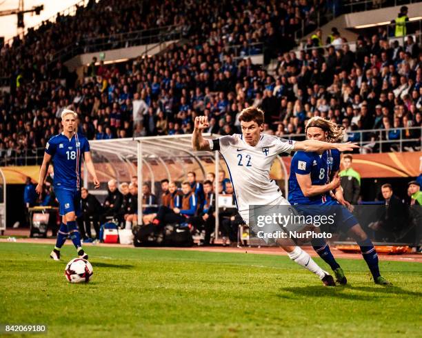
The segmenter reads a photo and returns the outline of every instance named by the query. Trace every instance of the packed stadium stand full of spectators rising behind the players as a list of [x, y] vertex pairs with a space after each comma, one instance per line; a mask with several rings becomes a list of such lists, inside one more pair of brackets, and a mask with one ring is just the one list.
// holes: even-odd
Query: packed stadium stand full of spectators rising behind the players
[[[266, 112], [265, 132], [281, 137], [300, 139], [305, 120], [321, 115], [343, 124], [349, 141], [365, 142], [365, 152], [396, 150], [398, 139], [405, 139], [400, 150], [420, 149], [420, 34], [403, 47], [380, 29], [352, 43], [336, 36], [330, 46], [315, 47], [310, 39], [293, 51], [295, 32], [316, 27], [313, 13], [330, 4], [184, 4], [91, 1], [75, 17], [58, 16], [3, 46], [0, 76], [11, 86], [0, 94], [1, 164], [39, 163], [69, 107], [89, 139], [188, 133], [199, 114], [208, 115], [210, 132], [227, 135], [239, 130], [239, 112], [255, 105]], [[50, 62], [74, 43], [168, 25], [181, 27], [188, 39], [152, 57], [111, 65], [94, 60], [82, 81], [66, 59]], [[264, 64], [277, 59], [274, 70], [252, 63], [262, 53]], [[379, 140], [386, 141], [381, 148]]]

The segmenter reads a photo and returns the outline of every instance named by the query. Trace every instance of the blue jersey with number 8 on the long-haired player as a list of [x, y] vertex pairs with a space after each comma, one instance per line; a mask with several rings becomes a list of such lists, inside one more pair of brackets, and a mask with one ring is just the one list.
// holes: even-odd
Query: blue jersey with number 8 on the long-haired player
[[289, 177], [289, 202], [292, 204], [323, 204], [328, 194], [305, 197], [297, 181], [296, 174], [309, 175], [312, 186], [323, 186], [330, 182], [332, 172], [339, 171], [339, 150], [325, 150], [322, 155], [316, 152], [298, 151], [292, 157]]

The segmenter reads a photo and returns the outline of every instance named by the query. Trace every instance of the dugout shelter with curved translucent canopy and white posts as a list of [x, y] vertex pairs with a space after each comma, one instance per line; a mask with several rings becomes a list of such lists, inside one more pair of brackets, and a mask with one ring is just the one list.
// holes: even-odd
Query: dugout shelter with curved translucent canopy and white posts
[[[205, 139], [219, 135], [203, 134]], [[130, 182], [132, 176], [138, 177], [138, 219], [142, 219], [142, 184], [148, 183], [154, 195], [159, 197], [161, 179], [181, 183], [190, 171], [194, 171], [198, 181], [205, 180], [207, 172], [218, 175], [219, 170], [227, 167], [219, 152], [194, 151], [191, 135], [172, 135], [157, 137], [135, 137], [128, 139], [110, 139], [90, 141], [92, 161], [94, 162], [101, 188], [94, 190], [88, 180], [88, 170], [83, 170], [84, 186], [93, 195], [107, 195], [107, 182], [116, 179], [118, 183]], [[288, 175], [285, 164], [278, 157], [272, 168], [272, 179], [288, 191]], [[139, 163], [139, 165], [138, 165]], [[218, 176], [217, 176], [218, 177]], [[216, 238], [219, 229], [219, 196], [216, 193], [217, 217]]]

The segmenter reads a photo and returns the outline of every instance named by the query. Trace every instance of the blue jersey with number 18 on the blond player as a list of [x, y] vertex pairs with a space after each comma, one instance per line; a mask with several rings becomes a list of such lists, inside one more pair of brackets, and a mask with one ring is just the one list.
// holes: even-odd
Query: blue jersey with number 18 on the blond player
[[54, 188], [79, 190], [81, 163], [84, 152], [90, 151], [88, 139], [75, 133], [68, 139], [63, 133], [53, 136], [46, 145], [46, 153], [54, 163]]

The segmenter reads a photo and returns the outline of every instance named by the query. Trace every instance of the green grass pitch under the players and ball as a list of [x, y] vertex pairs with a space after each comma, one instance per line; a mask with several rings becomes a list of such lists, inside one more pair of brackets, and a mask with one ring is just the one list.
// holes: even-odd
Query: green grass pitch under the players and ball
[[[0, 323], [49, 337], [421, 337], [422, 265], [339, 259], [350, 286], [323, 287], [288, 257], [87, 246], [94, 276], [69, 284], [40, 244], [0, 243]], [[321, 266], [328, 268], [321, 259]], [[38, 335], [39, 337], [39, 335]]]

